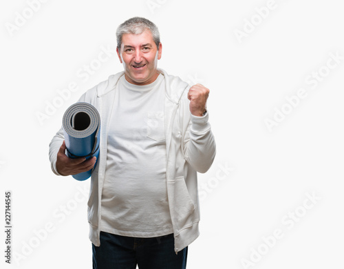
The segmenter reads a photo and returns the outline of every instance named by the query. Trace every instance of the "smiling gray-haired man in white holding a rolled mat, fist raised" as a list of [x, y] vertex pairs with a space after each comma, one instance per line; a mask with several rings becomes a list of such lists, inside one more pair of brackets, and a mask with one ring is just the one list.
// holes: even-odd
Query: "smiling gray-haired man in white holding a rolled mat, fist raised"
[[[209, 90], [157, 67], [162, 43], [151, 21], [131, 18], [116, 36], [124, 71], [79, 99], [95, 106], [101, 119], [88, 201], [93, 266], [186, 268], [188, 246], [199, 235], [197, 172], [215, 158]], [[69, 159], [65, 150], [61, 129], [50, 143], [56, 175], [94, 167], [96, 157]]]

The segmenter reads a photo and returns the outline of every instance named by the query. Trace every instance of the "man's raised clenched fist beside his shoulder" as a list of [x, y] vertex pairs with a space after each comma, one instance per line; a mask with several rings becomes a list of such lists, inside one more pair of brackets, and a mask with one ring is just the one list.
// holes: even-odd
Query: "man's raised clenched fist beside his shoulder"
[[209, 89], [202, 84], [196, 84], [189, 89], [188, 99], [190, 100], [190, 112], [194, 116], [202, 117], [206, 112], [206, 99]]

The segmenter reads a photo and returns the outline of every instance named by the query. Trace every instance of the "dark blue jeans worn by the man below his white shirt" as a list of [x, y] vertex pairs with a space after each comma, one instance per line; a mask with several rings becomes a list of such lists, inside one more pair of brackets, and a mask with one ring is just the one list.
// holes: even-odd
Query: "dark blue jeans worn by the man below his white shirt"
[[174, 251], [173, 234], [138, 238], [100, 232], [100, 246], [92, 244], [94, 269], [185, 269], [188, 248]]

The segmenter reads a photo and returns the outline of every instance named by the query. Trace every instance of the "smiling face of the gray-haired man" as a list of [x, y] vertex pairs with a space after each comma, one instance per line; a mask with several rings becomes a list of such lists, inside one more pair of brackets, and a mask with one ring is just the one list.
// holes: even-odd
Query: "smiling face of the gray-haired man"
[[127, 81], [136, 85], [147, 85], [155, 81], [159, 75], [157, 66], [161, 52], [161, 43], [158, 50], [149, 30], [141, 34], [123, 34], [117, 54], [125, 68]]

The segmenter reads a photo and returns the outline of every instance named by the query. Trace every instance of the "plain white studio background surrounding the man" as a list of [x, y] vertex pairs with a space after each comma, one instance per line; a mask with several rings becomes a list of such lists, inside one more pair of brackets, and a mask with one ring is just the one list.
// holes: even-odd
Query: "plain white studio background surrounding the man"
[[[56, 177], [48, 146], [65, 110], [122, 70], [116, 28], [142, 16], [160, 29], [160, 68], [211, 90], [217, 157], [199, 177], [201, 235], [188, 268], [343, 268], [344, 59], [330, 58], [344, 56], [341, 1], [276, 0], [268, 11], [260, 0], [50, 0], [34, 11], [32, 1], [0, 4], [0, 206], [12, 191], [13, 226], [6, 266], [92, 268], [80, 191], [89, 181]], [[82, 77], [107, 47], [107, 61]], [[72, 82], [78, 90], [61, 99]], [[286, 97], [300, 88], [292, 107]], [[1, 253], [4, 226], [2, 213]]]

